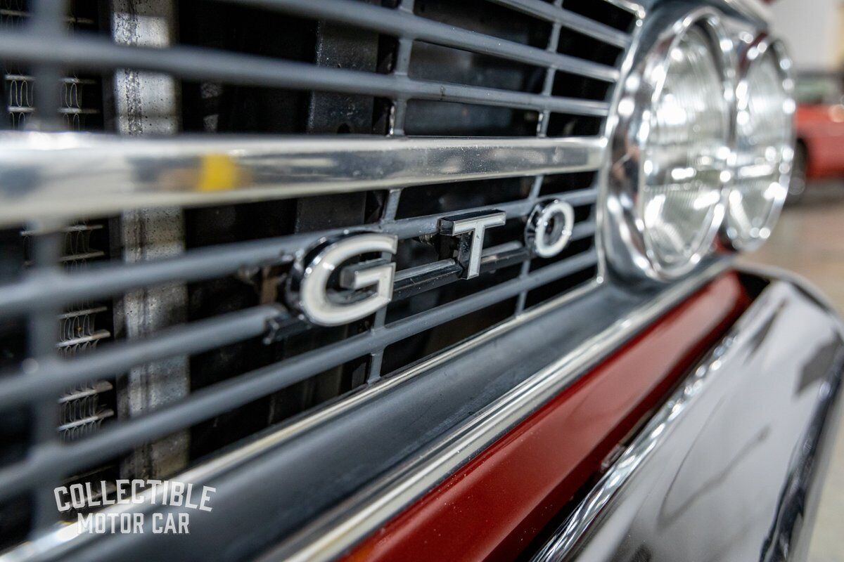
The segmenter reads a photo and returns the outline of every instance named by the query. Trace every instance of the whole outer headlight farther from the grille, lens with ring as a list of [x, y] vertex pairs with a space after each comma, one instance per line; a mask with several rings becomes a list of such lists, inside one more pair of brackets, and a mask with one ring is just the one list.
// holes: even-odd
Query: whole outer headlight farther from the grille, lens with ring
[[791, 63], [779, 44], [753, 45], [736, 88], [736, 167], [724, 222], [733, 249], [770, 235], [788, 192], [793, 158]]

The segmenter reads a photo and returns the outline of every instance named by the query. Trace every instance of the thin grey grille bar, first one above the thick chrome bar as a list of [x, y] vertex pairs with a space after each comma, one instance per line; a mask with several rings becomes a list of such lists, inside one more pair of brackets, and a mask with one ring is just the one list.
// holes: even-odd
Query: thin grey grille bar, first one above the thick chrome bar
[[[95, 37], [50, 36], [34, 41], [30, 34], [8, 31], [0, 35], [0, 52], [8, 59], [30, 64], [60, 65], [84, 70], [132, 67], [200, 81], [217, 78], [226, 83], [266, 88], [366, 94], [391, 99], [432, 99], [576, 115], [604, 116], [609, 110], [605, 102], [584, 99], [413, 80], [398, 74], [317, 67], [305, 62], [274, 60], [266, 56], [207, 48], [178, 46], [161, 49], [116, 45]], [[613, 73], [617, 72], [612, 67], [609, 69]]]

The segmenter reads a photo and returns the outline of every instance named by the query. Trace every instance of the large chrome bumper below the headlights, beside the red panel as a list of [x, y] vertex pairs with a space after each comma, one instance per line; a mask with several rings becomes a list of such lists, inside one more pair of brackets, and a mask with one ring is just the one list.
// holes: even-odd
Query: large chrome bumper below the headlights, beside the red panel
[[795, 282], [771, 280], [533, 562], [784, 559], [844, 363], [841, 319]]

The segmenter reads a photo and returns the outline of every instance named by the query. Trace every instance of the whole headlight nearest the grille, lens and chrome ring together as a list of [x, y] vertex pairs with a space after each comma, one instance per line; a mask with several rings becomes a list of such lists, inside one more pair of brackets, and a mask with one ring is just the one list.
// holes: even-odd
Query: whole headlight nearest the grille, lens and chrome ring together
[[692, 270], [721, 227], [733, 107], [717, 14], [666, 27], [625, 78], [603, 231], [617, 270], [659, 280]]

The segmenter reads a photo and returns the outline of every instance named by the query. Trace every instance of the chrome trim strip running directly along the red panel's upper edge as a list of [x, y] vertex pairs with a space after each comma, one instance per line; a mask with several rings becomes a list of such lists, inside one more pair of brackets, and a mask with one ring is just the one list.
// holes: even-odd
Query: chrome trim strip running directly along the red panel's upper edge
[[574, 383], [609, 352], [726, 270], [728, 263], [719, 261], [700, 274], [666, 288], [647, 306], [593, 335], [436, 444], [317, 518], [263, 559], [327, 561], [342, 554]]

